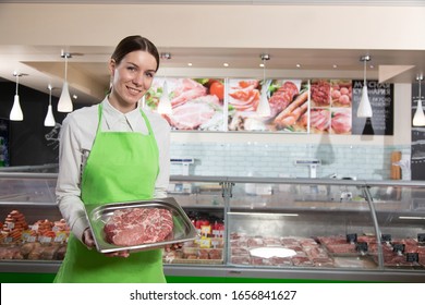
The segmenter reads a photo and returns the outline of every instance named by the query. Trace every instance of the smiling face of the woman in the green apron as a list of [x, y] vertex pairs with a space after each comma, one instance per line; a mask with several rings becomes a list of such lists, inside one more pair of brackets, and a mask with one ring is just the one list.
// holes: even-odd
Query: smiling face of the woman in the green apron
[[155, 57], [146, 51], [130, 52], [119, 64], [111, 59], [112, 89], [109, 102], [123, 113], [133, 110], [150, 88], [156, 68]]

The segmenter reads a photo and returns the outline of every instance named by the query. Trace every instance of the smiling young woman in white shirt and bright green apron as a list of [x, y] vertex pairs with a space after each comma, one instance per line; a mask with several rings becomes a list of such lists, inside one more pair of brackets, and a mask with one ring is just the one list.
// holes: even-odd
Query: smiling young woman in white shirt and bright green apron
[[109, 60], [110, 93], [63, 120], [57, 197], [72, 233], [54, 282], [166, 281], [162, 249], [98, 253], [84, 211], [84, 205], [167, 196], [170, 127], [139, 108], [158, 68], [151, 41], [122, 39]]

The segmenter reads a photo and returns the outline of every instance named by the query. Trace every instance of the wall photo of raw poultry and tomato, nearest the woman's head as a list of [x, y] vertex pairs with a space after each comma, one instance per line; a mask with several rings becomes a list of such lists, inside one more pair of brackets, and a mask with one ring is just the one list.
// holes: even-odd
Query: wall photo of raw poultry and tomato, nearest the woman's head
[[172, 113], [162, 114], [175, 131], [223, 131], [223, 80], [155, 78], [145, 102], [157, 110], [167, 81]]

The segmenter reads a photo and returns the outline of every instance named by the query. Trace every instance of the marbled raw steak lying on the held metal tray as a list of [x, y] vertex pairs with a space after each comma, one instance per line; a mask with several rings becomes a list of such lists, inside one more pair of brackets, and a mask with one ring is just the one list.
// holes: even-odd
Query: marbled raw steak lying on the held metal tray
[[134, 246], [162, 242], [172, 232], [171, 212], [161, 208], [116, 210], [104, 227], [108, 243]]

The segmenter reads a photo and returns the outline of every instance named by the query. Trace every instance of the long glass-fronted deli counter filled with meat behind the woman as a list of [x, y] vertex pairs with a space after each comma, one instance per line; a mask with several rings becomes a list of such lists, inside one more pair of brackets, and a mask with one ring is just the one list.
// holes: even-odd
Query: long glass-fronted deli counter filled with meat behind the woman
[[[1, 282], [52, 280], [70, 229], [57, 173], [0, 172]], [[173, 175], [198, 237], [169, 282], [425, 282], [425, 182]]]

